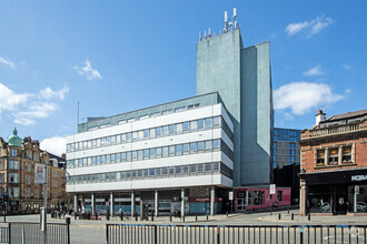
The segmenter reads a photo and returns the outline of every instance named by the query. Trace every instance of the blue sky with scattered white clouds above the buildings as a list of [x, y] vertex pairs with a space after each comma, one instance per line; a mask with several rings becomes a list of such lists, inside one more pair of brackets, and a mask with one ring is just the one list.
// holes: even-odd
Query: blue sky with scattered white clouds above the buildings
[[1, 1], [0, 136], [60, 153], [80, 118], [196, 94], [199, 31], [237, 8], [245, 47], [270, 41], [275, 125], [363, 110], [366, 1]]

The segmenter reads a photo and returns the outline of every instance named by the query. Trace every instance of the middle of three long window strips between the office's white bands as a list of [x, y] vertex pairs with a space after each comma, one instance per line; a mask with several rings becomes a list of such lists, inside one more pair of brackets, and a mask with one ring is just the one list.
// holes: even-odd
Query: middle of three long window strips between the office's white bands
[[219, 151], [220, 149], [222, 149], [226, 155], [228, 154], [227, 156], [229, 159], [234, 157], [232, 156], [234, 153], [229, 149], [229, 146], [226, 143], [224, 143], [221, 140], [216, 139], [216, 140], [191, 142], [191, 143], [176, 144], [169, 146], [159, 146], [152, 149], [89, 156], [77, 160], [68, 160], [67, 167], [68, 169], [85, 167], [85, 166], [95, 166], [95, 165], [102, 165], [110, 163], [131, 162], [137, 160], [151, 160], [151, 159], [159, 159], [167, 156], [178, 156], [186, 154]]

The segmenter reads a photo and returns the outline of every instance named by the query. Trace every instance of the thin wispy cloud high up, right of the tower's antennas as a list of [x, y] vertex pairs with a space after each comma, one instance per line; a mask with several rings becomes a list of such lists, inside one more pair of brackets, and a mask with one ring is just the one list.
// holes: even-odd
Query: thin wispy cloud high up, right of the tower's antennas
[[321, 30], [327, 28], [334, 22], [331, 18], [327, 18], [324, 14], [320, 17], [316, 17], [316, 19], [310, 21], [301, 21], [289, 23], [286, 27], [286, 32], [288, 35], [294, 35], [301, 31], [306, 32], [307, 37], [311, 37], [314, 34], [319, 33]]

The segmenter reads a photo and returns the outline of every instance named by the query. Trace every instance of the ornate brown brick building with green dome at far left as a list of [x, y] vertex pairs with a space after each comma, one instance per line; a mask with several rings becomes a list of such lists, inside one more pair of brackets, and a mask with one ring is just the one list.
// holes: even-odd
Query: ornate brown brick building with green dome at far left
[[48, 164], [48, 207], [68, 203], [65, 160], [40, 150], [31, 138], [21, 140], [14, 129], [8, 142], [0, 138], [0, 195], [9, 195], [8, 213], [38, 213], [43, 206], [43, 184], [34, 184], [36, 164]]

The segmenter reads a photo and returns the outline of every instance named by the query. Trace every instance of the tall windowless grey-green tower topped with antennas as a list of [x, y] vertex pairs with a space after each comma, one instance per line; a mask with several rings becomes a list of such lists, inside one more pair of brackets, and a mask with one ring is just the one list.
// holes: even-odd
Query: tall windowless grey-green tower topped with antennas
[[197, 95], [218, 92], [235, 124], [234, 184], [271, 182], [270, 43], [244, 48], [239, 24], [197, 43]]

